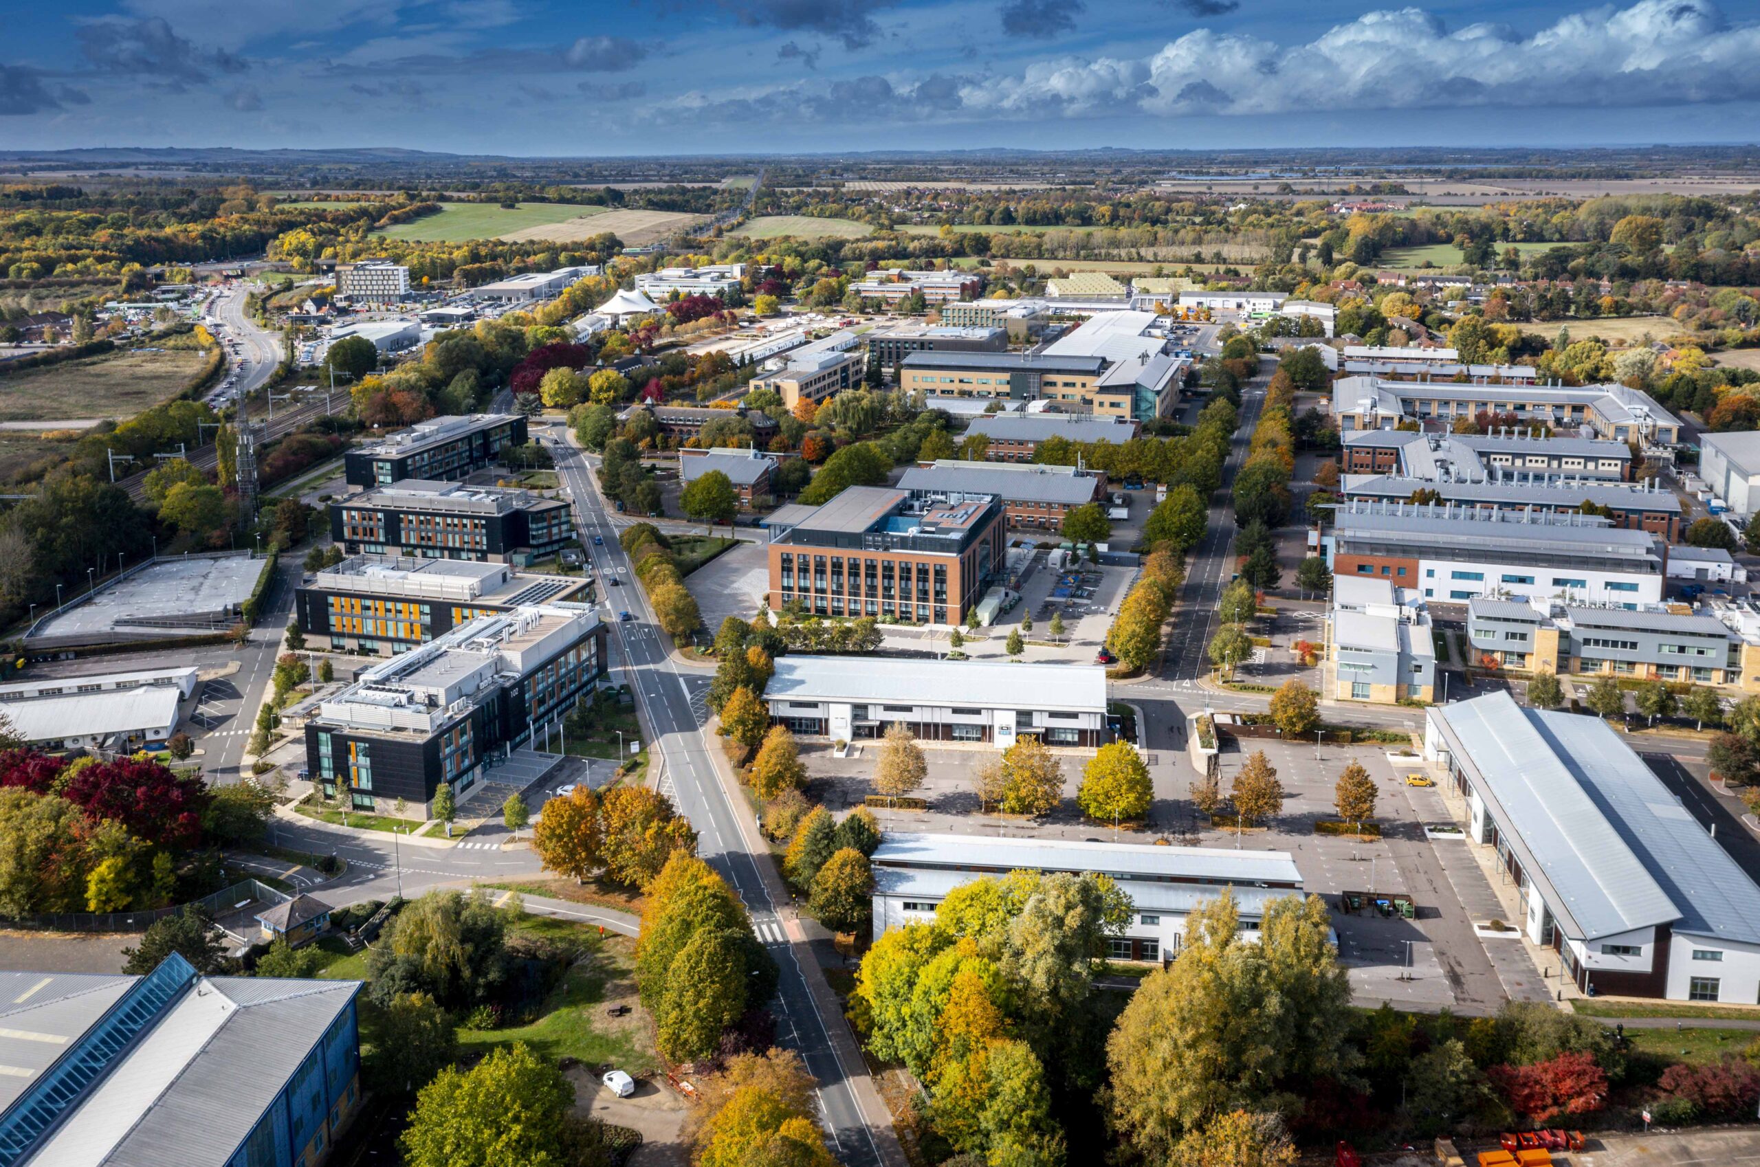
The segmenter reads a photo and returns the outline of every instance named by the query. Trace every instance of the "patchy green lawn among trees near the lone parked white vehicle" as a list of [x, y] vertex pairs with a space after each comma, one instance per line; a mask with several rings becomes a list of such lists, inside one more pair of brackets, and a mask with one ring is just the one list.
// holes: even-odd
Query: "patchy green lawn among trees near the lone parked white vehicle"
[[547, 1058], [576, 1058], [586, 1065], [609, 1063], [630, 1074], [658, 1070], [660, 1060], [648, 1042], [648, 1028], [641, 1014], [614, 1019], [607, 1017], [602, 1009], [607, 998], [634, 995], [635, 942], [625, 936], [600, 938], [597, 929], [553, 917], [526, 917], [517, 928], [558, 940], [574, 940], [583, 943], [590, 956], [568, 970], [563, 982], [544, 1002], [537, 1021], [502, 1030], [459, 1026], [459, 1049], [463, 1053], [488, 1053], [496, 1046], [524, 1042]]

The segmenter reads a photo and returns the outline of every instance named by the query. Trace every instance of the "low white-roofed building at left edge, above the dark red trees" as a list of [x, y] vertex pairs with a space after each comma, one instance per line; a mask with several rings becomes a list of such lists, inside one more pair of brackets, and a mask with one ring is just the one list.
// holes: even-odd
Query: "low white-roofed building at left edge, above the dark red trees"
[[33, 746], [130, 752], [171, 738], [194, 692], [194, 667], [14, 681], [0, 713]]

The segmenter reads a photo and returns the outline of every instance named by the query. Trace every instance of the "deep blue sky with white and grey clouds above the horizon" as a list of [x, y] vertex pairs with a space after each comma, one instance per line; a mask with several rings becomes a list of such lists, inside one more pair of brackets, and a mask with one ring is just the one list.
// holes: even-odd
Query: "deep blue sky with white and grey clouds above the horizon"
[[1755, 141], [1760, 4], [11, 0], [0, 146]]

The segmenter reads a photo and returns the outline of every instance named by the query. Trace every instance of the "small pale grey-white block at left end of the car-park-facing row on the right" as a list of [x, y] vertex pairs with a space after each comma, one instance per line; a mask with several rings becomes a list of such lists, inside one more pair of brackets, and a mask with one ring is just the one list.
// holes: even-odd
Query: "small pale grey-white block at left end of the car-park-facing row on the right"
[[1424, 598], [1382, 577], [1334, 579], [1322, 688], [1329, 699], [1434, 701], [1436, 642]]

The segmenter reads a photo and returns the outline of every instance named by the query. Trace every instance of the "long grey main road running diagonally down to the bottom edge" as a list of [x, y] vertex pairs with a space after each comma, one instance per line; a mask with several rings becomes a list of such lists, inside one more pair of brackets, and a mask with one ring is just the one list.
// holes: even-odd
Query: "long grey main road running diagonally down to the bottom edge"
[[[635, 616], [627, 623], [612, 623], [616, 641], [612, 660], [637, 694], [648, 732], [658, 738], [655, 743], [660, 753], [658, 789], [690, 818], [697, 829], [697, 854], [739, 892], [759, 938], [781, 968], [776, 1000], [778, 1042], [796, 1049], [818, 1079], [822, 1118], [840, 1162], [852, 1167], [898, 1162], [891, 1119], [866, 1083], [866, 1072], [843, 1017], [834, 1014], [825, 1017], [808, 984], [808, 975], [818, 975], [817, 970], [806, 968], [815, 958], [794, 910], [785, 905], [785, 892], [767, 848], [753, 838], [748, 822], [734, 813], [723, 774], [711, 757], [711, 748], [718, 746], [711, 746], [702, 732], [709, 674], [681, 671], [672, 662], [667, 637], [656, 627], [648, 600], [630, 572], [628, 556], [618, 544], [618, 532], [591, 481], [591, 466], [572, 445], [572, 435], [568, 440], [553, 442], [551, 451], [556, 454], [558, 473], [574, 498], [583, 542], [602, 576], [623, 581], [616, 606], [627, 607]], [[595, 546], [595, 539], [600, 539], [602, 546]], [[605, 616], [616, 620], [611, 604], [605, 606]], [[840, 1033], [831, 1026], [838, 1026]], [[854, 1081], [857, 1075], [861, 1081]], [[875, 1107], [880, 1107], [878, 1112]], [[882, 1144], [892, 1153], [882, 1155]]]

